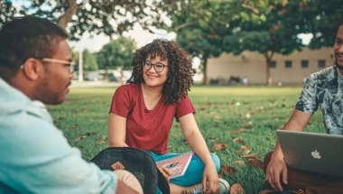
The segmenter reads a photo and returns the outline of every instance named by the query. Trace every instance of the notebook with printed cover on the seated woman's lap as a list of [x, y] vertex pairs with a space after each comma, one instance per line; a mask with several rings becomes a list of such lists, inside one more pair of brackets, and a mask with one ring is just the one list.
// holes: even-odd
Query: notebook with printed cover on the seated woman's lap
[[164, 166], [165, 168], [171, 170], [172, 176], [170, 179], [172, 180], [184, 175], [188, 166], [190, 165], [190, 160], [193, 155], [194, 152], [185, 152], [172, 158], [156, 162], [156, 165], [157, 167]]

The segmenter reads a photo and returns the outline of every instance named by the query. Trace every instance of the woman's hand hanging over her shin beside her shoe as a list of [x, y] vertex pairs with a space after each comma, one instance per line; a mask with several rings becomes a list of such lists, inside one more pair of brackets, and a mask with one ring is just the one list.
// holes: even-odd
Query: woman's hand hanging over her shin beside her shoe
[[219, 188], [219, 178], [213, 162], [205, 164], [202, 177], [202, 188], [205, 193], [216, 192]]

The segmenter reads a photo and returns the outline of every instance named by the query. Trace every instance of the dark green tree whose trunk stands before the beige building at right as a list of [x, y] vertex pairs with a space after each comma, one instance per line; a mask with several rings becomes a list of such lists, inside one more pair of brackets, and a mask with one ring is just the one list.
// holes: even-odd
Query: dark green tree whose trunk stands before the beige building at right
[[264, 56], [266, 85], [272, 84], [270, 64], [273, 54], [287, 55], [301, 51], [303, 47], [299, 32], [295, 30], [297, 23], [292, 20], [294, 12], [289, 11], [289, 6], [286, 2], [266, 5], [257, 21], [239, 18], [232, 26], [233, 34], [224, 38], [224, 50], [227, 52], [237, 55], [246, 50], [257, 51]]

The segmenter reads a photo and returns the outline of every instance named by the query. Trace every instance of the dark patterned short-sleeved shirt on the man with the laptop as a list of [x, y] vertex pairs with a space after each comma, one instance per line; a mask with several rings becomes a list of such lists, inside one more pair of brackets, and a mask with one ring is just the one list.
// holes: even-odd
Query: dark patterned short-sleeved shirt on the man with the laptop
[[334, 66], [311, 74], [295, 109], [313, 114], [320, 106], [328, 134], [343, 134], [343, 75]]

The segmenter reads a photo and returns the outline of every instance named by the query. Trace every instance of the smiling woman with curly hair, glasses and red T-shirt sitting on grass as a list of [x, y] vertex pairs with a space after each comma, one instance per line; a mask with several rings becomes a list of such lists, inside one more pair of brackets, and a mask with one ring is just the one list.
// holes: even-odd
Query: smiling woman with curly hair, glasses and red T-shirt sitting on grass
[[[179, 153], [167, 153], [174, 117], [181, 125], [193, 155], [182, 177], [170, 180], [172, 171], [159, 170], [170, 182], [171, 193], [227, 193], [228, 183], [218, 179], [220, 162], [199, 132], [195, 110], [188, 97], [193, 83], [190, 55], [175, 42], [154, 40], [134, 53], [128, 84], [116, 89], [110, 107], [108, 143], [152, 152], [155, 162]], [[220, 187], [219, 187], [220, 186]], [[223, 186], [226, 186], [223, 188]]]

